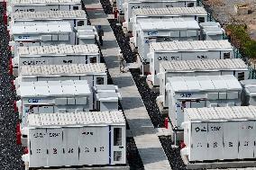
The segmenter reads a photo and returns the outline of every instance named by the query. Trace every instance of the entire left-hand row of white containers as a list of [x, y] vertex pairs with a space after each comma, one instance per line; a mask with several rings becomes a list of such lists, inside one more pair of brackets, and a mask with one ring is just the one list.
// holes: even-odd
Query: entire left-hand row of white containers
[[126, 166], [126, 123], [118, 87], [107, 84], [97, 31], [80, 0], [3, 3], [20, 97], [17, 143], [26, 169]]

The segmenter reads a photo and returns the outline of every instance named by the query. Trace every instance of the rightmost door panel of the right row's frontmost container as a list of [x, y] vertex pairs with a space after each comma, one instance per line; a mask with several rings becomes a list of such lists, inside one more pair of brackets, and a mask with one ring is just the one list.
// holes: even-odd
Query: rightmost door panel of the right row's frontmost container
[[254, 121], [239, 123], [239, 158], [253, 158], [255, 127]]

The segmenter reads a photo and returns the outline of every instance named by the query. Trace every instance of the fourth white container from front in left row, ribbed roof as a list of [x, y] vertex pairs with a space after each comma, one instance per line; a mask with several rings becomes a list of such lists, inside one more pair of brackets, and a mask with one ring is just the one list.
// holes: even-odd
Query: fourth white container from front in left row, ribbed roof
[[96, 44], [19, 47], [14, 68], [22, 66], [99, 63]]

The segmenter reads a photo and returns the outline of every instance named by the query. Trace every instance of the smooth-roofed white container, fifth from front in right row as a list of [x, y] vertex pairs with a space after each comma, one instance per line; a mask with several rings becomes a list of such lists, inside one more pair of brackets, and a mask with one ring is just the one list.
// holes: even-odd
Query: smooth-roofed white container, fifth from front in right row
[[134, 45], [145, 63], [151, 62], [147, 57], [151, 42], [199, 40], [200, 35], [200, 27], [194, 18], [151, 19], [138, 22], [136, 26]]

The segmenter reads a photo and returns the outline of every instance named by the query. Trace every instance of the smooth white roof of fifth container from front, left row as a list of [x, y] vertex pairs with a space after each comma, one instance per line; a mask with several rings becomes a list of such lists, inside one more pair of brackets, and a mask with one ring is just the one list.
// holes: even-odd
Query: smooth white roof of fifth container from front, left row
[[11, 34], [41, 34], [72, 32], [69, 22], [18, 22], [12, 26]]

